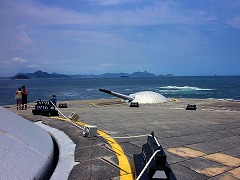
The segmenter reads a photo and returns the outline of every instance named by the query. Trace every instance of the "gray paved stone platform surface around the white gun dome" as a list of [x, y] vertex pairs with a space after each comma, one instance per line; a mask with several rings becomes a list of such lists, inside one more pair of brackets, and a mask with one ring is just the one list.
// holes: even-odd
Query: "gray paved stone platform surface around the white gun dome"
[[[79, 121], [95, 125], [113, 137], [154, 131], [179, 180], [240, 179], [240, 102], [178, 99], [138, 108], [116, 99], [65, 102], [68, 108], [60, 109], [65, 116], [75, 112]], [[196, 104], [198, 109], [185, 110], [187, 104]], [[17, 111], [13, 106], [6, 108], [30, 121], [41, 120], [62, 130], [73, 140], [76, 144], [75, 161], [79, 164], [68, 179], [119, 179], [116, 154], [104, 139], [84, 138], [82, 130], [70, 123], [34, 116], [31, 113], [33, 105], [28, 110]], [[131, 164], [133, 154], [141, 152], [147, 137], [115, 141]]]

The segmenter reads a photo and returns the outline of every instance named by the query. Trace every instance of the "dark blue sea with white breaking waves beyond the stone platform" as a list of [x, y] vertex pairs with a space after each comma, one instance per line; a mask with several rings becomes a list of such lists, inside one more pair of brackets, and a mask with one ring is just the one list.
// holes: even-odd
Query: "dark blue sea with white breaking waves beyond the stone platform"
[[14, 95], [25, 85], [29, 102], [112, 98], [99, 88], [129, 95], [139, 91], [155, 91], [170, 98], [215, 98], [240, 100], [240, 76], [154, 77], [154, 78], [79, 78], [79, 79], [0, 79], [0, 105], [15, 104]]

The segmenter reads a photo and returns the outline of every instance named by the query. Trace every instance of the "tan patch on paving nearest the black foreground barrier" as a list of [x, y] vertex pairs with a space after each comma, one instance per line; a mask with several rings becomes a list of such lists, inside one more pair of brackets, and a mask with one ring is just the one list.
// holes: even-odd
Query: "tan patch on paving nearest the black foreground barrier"
[[176, 154], [178, 156], [181, 156], [181, 157], [200, 157], [200, 156], [206, 155], [203, 152], [196, 151], [196, 150], [190, 149], [190, 148], [183, 148], [183, 147], [168, 148], [167, 151], [172, 153], [172, 154]]

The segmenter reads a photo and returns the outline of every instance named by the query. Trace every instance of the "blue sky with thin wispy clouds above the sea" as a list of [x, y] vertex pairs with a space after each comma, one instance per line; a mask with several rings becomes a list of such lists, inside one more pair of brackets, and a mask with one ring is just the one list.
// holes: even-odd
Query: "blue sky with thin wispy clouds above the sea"
[[240, 75], [240, 0], [1, 0], [0, 76]]

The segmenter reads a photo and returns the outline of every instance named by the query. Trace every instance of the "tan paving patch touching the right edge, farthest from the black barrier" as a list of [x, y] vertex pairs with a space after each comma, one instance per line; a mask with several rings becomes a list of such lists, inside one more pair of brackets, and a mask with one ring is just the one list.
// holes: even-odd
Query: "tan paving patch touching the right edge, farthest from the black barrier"
[[226, 154], [222, 154], [222, 153], [210, 154], [203, 158], [210, 159], [227, 166], [233, 166], [233, 167], [240, 166], [240, 159], [226, 155]]

